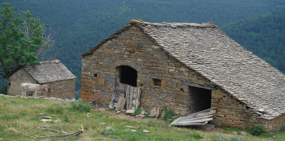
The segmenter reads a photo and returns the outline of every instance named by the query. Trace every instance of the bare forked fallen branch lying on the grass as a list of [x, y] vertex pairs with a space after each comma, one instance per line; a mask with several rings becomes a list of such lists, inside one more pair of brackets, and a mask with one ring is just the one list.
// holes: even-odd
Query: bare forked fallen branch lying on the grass
[[[60, 119], [61, 119], [61, 118], [60, 118]], [[51, 135], [51, 136], [40, 136], [40, 135], [36, 135], [37, 137], [40, 137], [40, 138], [47, 138], [47, 137], [64, 137], [64, 136], [71, 136], [71, 135], [76, 135], [76, 136], [78, 136], [78, 135], [81, 134], [82, 132], [85, 133], [82, 125], [81, 125], [81, 129], [78, 129], [78, 128], [77, 128], [78, 131], [77, 131], [77, 132], [74, 132], [74, 133], [67, 133], [67, 132], [62, 131], [62, 128], [61, 128], [61, 125], [60, 125], [60, 122], [59, 122], [60, 119], [57, 120], [57, 123], [58, 123], [58, 126], [59, 126], [59, 128], [60, 128], [60, 131], [50, 129], [50, 126], [48, 126], [48, 125], [46, 125], [46, 126], [36, 126], [36, 125], [34, 125], [33, 123], [31, 123], [31, 122], [27, 123], [27, 122], [22, 121], [22, 119], [21, 119], [21, 121], [22, 121], [24, 124], [31, 124], [31, 125], [33, 125], [36, 129], [48, 130], [48, 131], [51, 131], [51, 132], [57, 132], [57, 133], [58, 133], [58, 134], [56, 134], [56, 135]], [[46, 128], [41, 128], [41, 127], [46, 127]], [[60, 135], [60, 133], [65, 133], [65, 134]]]

